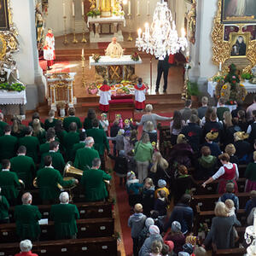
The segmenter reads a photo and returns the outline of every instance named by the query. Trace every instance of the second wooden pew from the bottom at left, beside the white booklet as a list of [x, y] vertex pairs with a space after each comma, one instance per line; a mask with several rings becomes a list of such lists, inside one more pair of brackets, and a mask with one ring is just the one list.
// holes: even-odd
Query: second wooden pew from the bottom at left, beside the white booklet
[[[113, 218], [88, 218], [79, 219], [77, 221], [78, 238], [113, 236], [114, 219]], [[48, 225], [41, 225], [40, 241], [54, 240], [55, 229], [54, 222], [49, 221]], [[14, 242], [20, 241], [16, 235], [16, 225], [1, 224], [0, 225], [0, 241]]]

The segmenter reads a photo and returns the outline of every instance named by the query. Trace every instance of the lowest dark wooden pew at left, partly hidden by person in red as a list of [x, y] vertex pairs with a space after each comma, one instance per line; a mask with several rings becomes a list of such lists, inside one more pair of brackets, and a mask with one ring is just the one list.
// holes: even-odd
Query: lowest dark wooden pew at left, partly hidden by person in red
[[[20, 251], [19, 243], [0, 244], [0, 255], [14, 256]], [[96, 237], [57, 241], [33, 242], [32, 253], [39, 256], [111, 255], [117, 256], [117, 241], [114, 237]]]

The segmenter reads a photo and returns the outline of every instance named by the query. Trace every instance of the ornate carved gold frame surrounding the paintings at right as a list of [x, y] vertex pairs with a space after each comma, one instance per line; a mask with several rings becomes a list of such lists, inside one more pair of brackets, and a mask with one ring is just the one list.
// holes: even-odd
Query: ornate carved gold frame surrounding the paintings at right
[[[215, 65], [219, 65], [219, 62], [223, 63], [224, 70], [228, 69], [229, 64], [225, 63], [230, 60], [230, 41], [224, 41], [224, 26], [228, 24], [221, 23], [221, 9], [222, 9], [222, 0], [218, 0], [218, 12], [214, 18], [214, 26], [212, 30], [212, 61]], [[232, 25], [232, 24], [230, 24]], [[248, 23], [237, 23], [233, 26], [238, 26], [239, 31], [237, 33], [243, 33], [243, 26], [248, 26]], [[236, 58], [232, 57], [232, 60]], [[256, 40], [249, 39], [247, 44], [247, 56], [239, 57], [239, 60], [248, 61], [249, 64], [243, 67], [242, 72], [248, 73], [256, 65]]]

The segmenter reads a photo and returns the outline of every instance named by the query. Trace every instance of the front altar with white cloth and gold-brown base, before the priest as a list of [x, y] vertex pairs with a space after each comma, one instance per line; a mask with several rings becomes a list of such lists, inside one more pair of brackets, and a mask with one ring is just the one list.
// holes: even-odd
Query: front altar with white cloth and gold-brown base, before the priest
[[131, 60], [131, 55], [123, 55], [118, 58], [101, 56], [98, 62], [90, 56], [89, 60], [90, 68], [95, 66], [96, 81], [107, 79], [110, 82], [136, 79], [135, 65], [143, 63], [141, 57], [138, 61]]

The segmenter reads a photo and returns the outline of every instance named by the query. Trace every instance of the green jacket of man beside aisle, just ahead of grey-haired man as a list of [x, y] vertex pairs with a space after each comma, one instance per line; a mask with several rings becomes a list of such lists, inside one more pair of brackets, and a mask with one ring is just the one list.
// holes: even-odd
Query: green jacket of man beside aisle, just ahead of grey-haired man
[[104, 130], [92, 128], [86, 131], [86, 135], [94, 138], [94, 148], [100, 155], [104, 154], [105, 148], [109, 151], [108, 139]]

